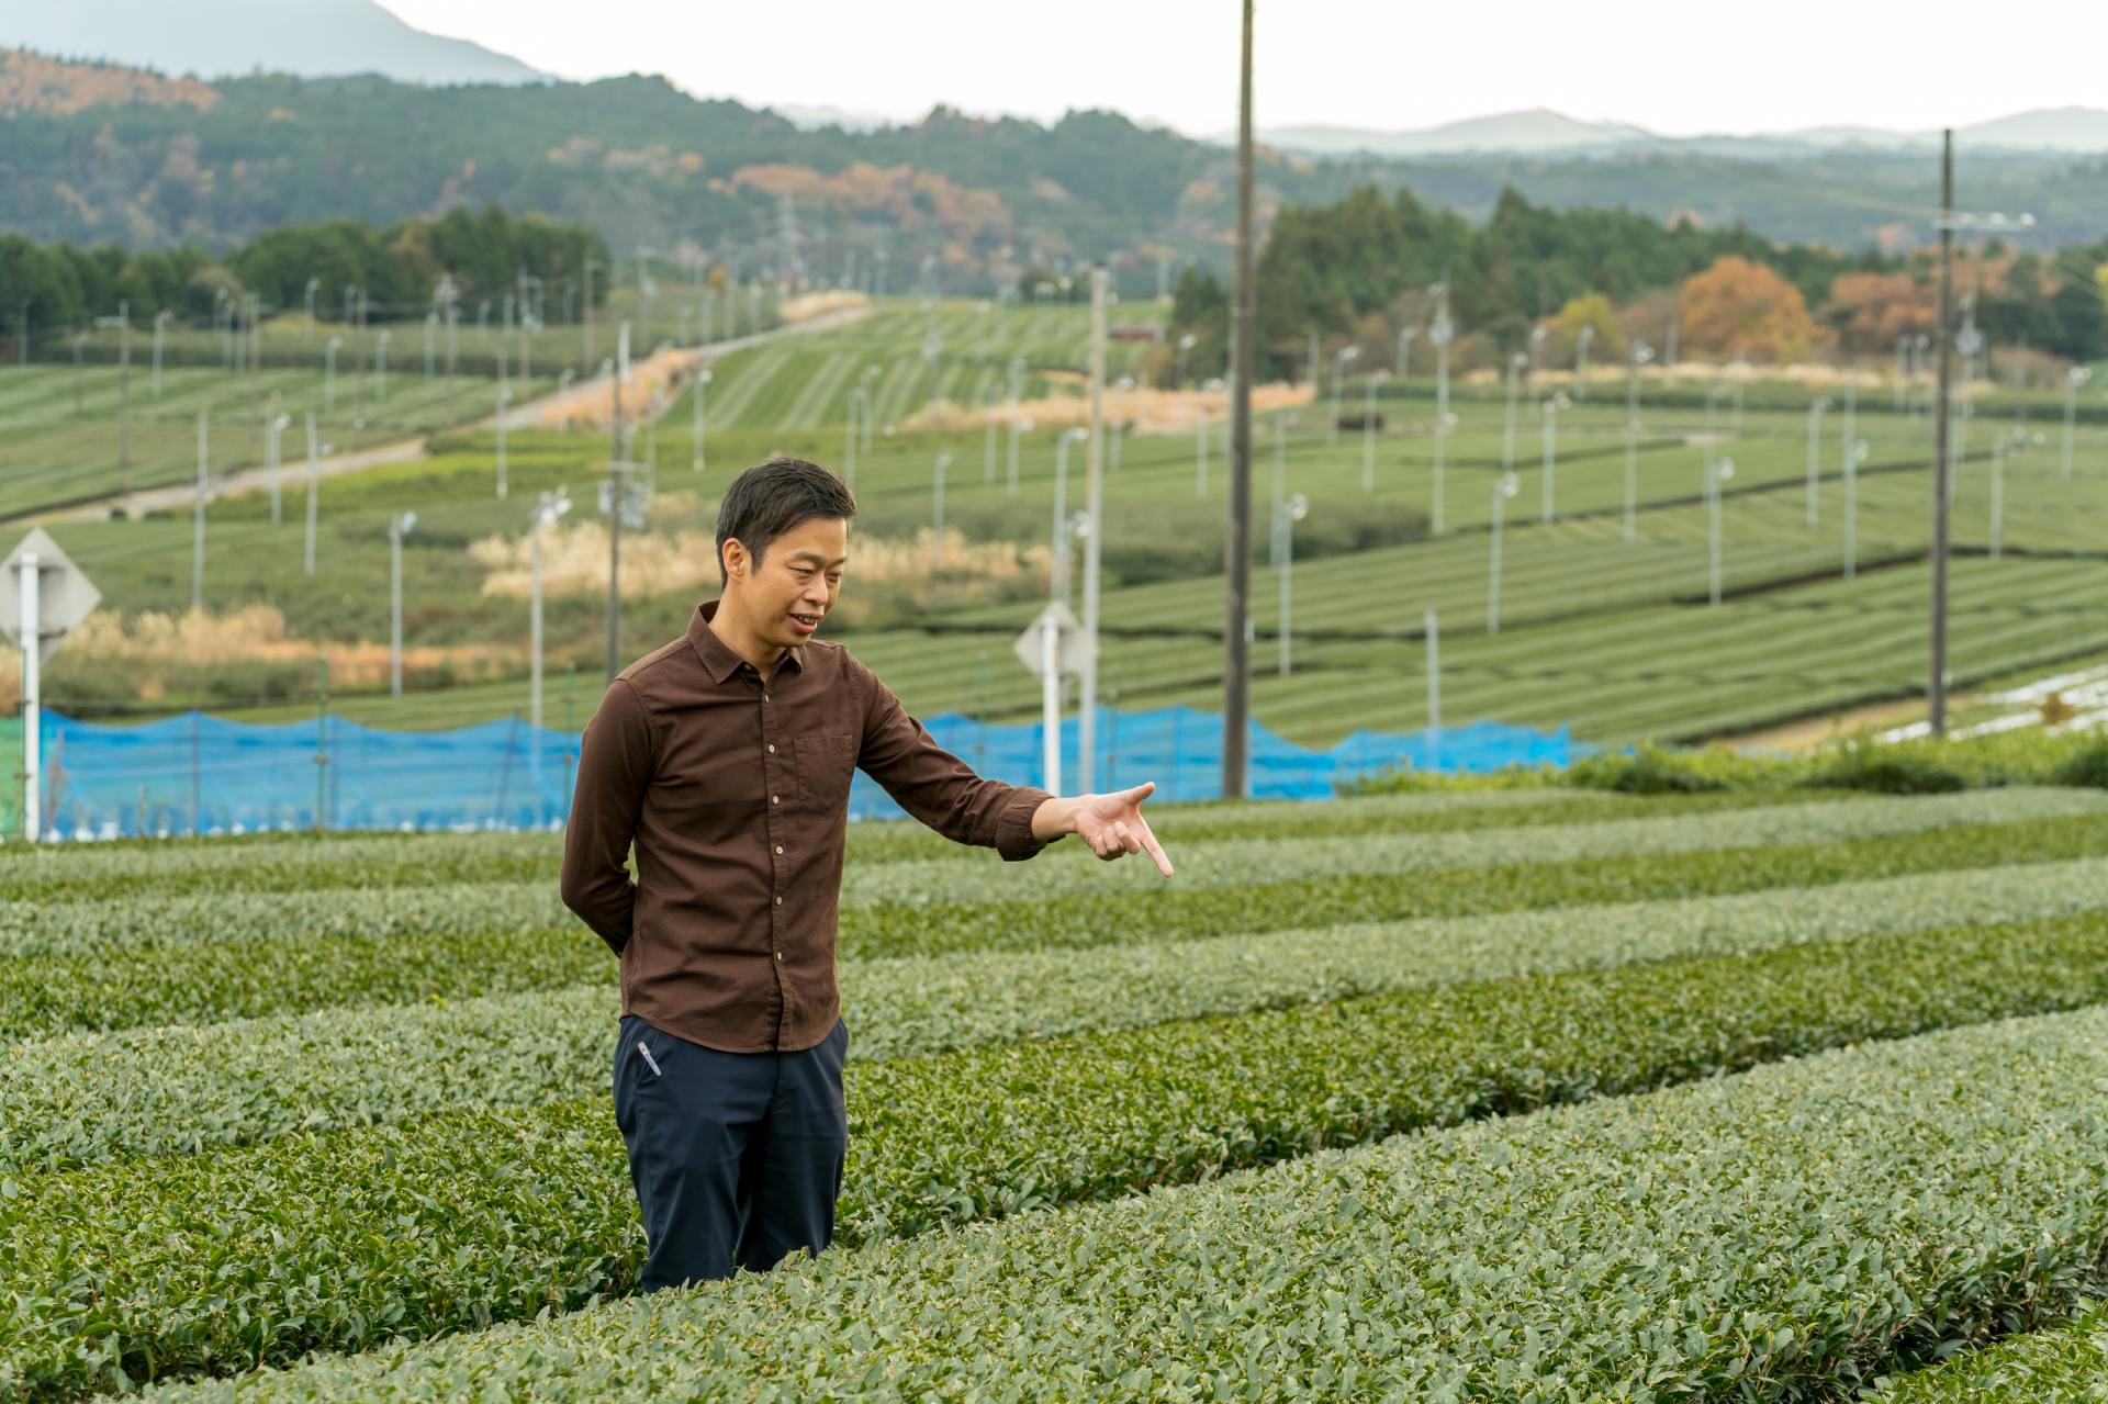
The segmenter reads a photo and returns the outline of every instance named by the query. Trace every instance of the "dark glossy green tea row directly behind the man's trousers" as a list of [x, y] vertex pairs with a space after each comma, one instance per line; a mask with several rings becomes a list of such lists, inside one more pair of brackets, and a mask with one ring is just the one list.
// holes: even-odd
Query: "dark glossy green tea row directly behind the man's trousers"
[[[852, 1172], [839, 1242], [1124, 1195], [1400, 1130], [2104, 997], [2108, 919], [2083, 917], [875, 1062], [850, 1081]], [[2043, 1069], [2053, 1058], [2007, 1054], [1996, 1073], [2017, 1075], [2011, 1062]], [[2091, 1107], [2097, 1062], [2085, 1081]], [[1996, 1090], [1998, 1077], [1946, 1096], [1975, 1096], [1984, 1086]], [[1929, 1096], [1891, 1100], [1887, 1081], [1874, 1092], [1895, 1126], [1935, 1111]], [[2045, 1088], [2036, 1107], [2062, 1107], [2055, 1094]], [[2007, 1103], [2009, 1122], [2022, 1115], [2011, 1107], [2028, 1105], [2026, 1096]], [[2089, 1126], [2108, 1136], [2097, 1115]], [[1929, 1140], [1925, 1126], [1912, 1126], [1918, 1153]], [[2108, 1193], [2097, 1174], [2102, 1147], [2083, 1149], [2097, 1200]], [[1674, 1157], [1653, 1164], [1667, 1185]], [[1897, 1195], [1910, 1178], [1868, 1183]], [[1950, 1189], [1952, 1168], [1937, 1183]], [[1634, 1195], [1638, 1185], [1617, 1193]], [[2091, 1204], [2047, 1172], [2011, 1183], [2000, 1172], [2009, 1204], [2043, 1187], [2055, 1187], [2068, 1212]], [[1457, 1204], [1436, 1185], [1427, 1193]], [[1473, 1193], [1492, 1195], [1484, 1210], [1501, 1204], [1497, 1183]], [[1777, 1185], [1767, 1193], [1777, 1195]], [[641, 1259], [605, 1092], [533, 1111], [445, 1113], [413, 1126], [0, 1181], [0, 1197], [11, 1218], [0, 1280], [21, 1284], [0, 1301], [0, 1391], [42, 1398], [571, 1309], [628, 1290]], [[1564, 1221], [1564, 1210], [1551, 1210], [1530, 1204], [1533, 1218]], [[1086, 1233], [1073, 1248], [1090, 1242]], [[1455, 1261], [1530, 1242], [1516, 1225]], [[1237, 1240], [1218, 1242], [1223, 1254], [1237, 1248]], [[1678, 1280], [1678, 1290], [1720, 1269], [1693, 1267], [1697, 1275]], [[1661, 1286], [1659, 1263], [1648, 1282]], [[1225, 1301], [1256, 1309], [1273, 1294], [1267, 1275], [1187, 1284], [1202, 1311]], [[854, 1334], [862, 1320], [862, 1309], [850, 1311], [831, 1330]], [[854, 1345], [837, 1343], [852, 1356]], [[698, 1349], [698, 1339], [687, 1347]]]

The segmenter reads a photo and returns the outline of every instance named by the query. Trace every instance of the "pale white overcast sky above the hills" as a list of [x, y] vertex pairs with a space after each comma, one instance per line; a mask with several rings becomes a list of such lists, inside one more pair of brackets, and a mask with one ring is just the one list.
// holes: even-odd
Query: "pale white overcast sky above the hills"
[[[1189, 133], [1237, 120], [1235, 0], [384, 0], [563, 78], [664, 72], [704, 97], [915, 118], [1117, 108]], [[2108, 105], [2108, 4], [1509, 0], [1256, 6], [1261, 126], [1431, 126], [1554, 108], [1665, 133], [1931, 129]], [[1277, 23], [1275, 23], [1277, 21]]]

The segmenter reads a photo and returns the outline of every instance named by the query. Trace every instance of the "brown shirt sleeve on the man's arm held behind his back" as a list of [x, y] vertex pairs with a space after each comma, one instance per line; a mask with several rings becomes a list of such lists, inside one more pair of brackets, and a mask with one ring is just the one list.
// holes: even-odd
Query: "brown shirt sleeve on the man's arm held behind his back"
[[651, 767], [651, 715], [630, 681], [616, 677], [580, 742], [561, 879], [563, 904], [616, 955], [630, 940], [637, 883], [628, 858]]

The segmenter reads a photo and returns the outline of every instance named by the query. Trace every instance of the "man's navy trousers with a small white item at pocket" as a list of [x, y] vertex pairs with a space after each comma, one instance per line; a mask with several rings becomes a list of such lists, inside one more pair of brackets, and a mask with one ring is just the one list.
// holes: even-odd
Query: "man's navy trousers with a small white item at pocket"
[[799, 1052], [727, 1054], [622, 1016], [616, 1126], [645, 1218], [641, 1290], [826, 1248], [850, 1149], [847, 1052], [847, 1022]]

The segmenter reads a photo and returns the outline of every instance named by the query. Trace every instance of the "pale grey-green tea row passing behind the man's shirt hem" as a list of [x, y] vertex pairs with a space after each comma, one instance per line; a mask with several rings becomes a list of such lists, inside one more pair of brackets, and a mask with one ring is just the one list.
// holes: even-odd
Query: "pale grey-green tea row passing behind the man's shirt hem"
[[[2085, 858], [1800, 892], [1566, 906], [1092, 951], [852, 961], [852, 1058], [1140, 1029], [1431, 984], [1743, 955], [2108, 909]], [[464, 1001], [70, 1035], [0, 1048], [0, 1172], [293, 1130], [533, 1107], [607, 1075], [611, 980]]]

